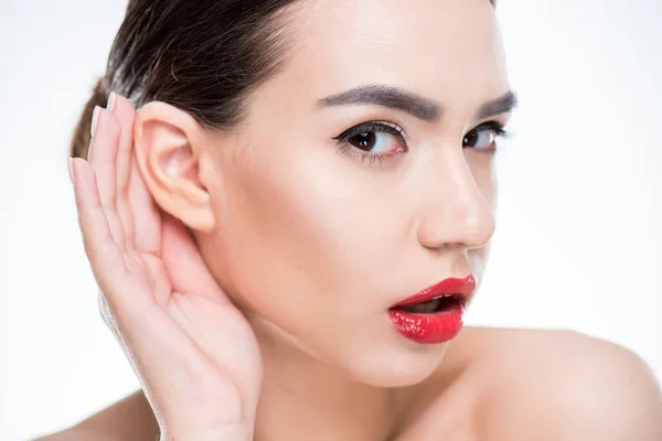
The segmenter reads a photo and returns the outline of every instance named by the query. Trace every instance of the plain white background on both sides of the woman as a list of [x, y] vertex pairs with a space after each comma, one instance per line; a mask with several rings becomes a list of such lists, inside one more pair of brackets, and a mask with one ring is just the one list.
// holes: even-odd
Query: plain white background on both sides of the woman
[[[97, 312], [65, 165], [125, 4], [0, 1], [1, 440], [137, 387]], [[468, 321], [605, 337], [660, 379], [662, 1], [502, 0], [499, 15], [521, 107]]]

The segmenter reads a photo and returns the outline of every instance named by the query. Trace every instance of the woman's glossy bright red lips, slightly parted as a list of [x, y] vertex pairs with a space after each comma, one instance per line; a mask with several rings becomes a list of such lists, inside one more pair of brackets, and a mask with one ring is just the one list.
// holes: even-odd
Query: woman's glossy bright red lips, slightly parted
[[[474, 290], [476, 279], [471, 275], [463, 279], [446, 279], [396, 303], [388, 310], [388, 315], [405, 337], [423, 344], [444, 343], [462, 329], [462, 312]], [[453, 294], [453, 303], [445, 311], [414, 313], [397, 309], [449, 294]]]

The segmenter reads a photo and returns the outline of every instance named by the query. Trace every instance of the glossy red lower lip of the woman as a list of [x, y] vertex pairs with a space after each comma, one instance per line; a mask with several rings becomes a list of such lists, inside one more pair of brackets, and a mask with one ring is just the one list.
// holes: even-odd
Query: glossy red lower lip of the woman
[[462, 329], [462, 305], [456, 303], [450, 310], [416, 314], [397, 309], [388, 310], [395, 329], [405, 337], [421, 344], [438, 344], [455, 338]]

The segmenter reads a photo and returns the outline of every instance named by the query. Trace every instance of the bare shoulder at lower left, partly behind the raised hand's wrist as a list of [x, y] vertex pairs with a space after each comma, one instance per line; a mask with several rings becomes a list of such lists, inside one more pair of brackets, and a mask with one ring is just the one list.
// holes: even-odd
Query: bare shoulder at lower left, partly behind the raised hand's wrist
[[142, 441], [158, 437], [154, 415], [142, 391], [138, 390], [75, 427], [35, 441]]

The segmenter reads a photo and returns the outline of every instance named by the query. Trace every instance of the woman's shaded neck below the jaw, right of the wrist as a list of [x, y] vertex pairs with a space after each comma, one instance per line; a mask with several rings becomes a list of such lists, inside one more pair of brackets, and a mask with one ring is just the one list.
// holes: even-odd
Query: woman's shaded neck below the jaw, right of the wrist
[[404, 404], [403, 390], [343, 377], [285, 337], [254, 325], [264, 377], [255, 440], [385, 440]]

